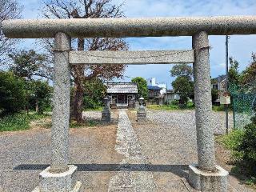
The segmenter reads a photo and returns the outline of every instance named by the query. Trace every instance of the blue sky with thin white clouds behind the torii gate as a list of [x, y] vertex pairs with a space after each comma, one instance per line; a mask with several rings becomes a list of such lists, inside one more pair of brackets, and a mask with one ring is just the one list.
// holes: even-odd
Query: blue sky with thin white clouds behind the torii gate
[[[40, 18], [40, 0], [19, 1], [24, 6], [23, 18]], [[127, 18], [180, 17], [180, 16], [218, 16], [218, 15], [255, 15], [255, 0], [113, 0], [124, 2], [123, 10]], [[130, 50], [181, 50], [191, 49], [190, 37], [164, 38], [126, 38]], [[23, 40], [26, 49], [34, 47], [34, 40]], [[244, 70], [250, 62], [250, 55], [256, 52], [256, 35], [234, 35], [230, 38], [230, 56], [240, 62]], [[210, 36], [211, 75], [216, 77], [225, 73], [225, 36]], [[141, 76], [155, 77], [157, 82], [167, 83], [170, 88], [174, 78], [170, 77], [172, 65], [128, 66], [126, 78]], [[130, 77], [130, 78], [128, 78]]]

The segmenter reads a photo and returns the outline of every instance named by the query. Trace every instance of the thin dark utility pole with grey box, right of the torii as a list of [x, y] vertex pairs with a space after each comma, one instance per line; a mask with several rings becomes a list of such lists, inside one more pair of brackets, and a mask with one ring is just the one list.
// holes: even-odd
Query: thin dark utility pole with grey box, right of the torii
[[[228, 78], [229, 78], [229, 39], [230, 36], [226, 35], [226, 93], [228, 92]], [[228, 109], [228, 104], [225, 105], [226, 108], [226, 134], [229, 133], [229, 109]]]

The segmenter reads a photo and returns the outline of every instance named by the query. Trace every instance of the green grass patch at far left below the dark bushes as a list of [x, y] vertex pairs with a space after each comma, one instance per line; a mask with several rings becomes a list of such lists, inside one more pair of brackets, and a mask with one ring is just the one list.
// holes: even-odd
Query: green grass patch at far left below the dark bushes
[[13, 114], [0, 118], [0, 132], [30, 129], [30, 122], [48, 117], [48, 114]]

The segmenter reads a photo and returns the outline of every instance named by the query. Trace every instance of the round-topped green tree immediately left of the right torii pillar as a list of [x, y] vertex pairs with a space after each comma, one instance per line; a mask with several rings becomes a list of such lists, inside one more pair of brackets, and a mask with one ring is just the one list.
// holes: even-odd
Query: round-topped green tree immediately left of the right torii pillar
[[192, 81], [193, 69], [186, 64], [178, 64], [170, 70], [173, 77], [177, 77], [172, 86], [174, 91], [180, 95], [180, 102], [186, 104], [188, 98], [194, 97], [194, 82]]

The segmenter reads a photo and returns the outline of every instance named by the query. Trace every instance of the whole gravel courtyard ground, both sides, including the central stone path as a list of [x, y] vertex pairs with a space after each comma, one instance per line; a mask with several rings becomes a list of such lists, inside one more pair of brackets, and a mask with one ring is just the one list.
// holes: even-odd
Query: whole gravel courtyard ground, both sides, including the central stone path
[[[123, 111], [118, 124], [113, 110], [110, 124], [70, 130], [70, 163], [78, 166], [82, 191], [194, 191], [186, 182], [187, 165], [197, 162], [194, 111], [149, 110], [146, 122], [136, 122], [134, 111], [127, 110], [129, 121]], [[84, 117], [99, 120], [101, 112]], [[215, 134], [225, 133], [224, 118], [213, 113]], [[50, 130], [0, 133], [0, 143], [0, 191], [33, 190], [50, 164]], [[229, 188], [253, 191], [231, 177]]]

